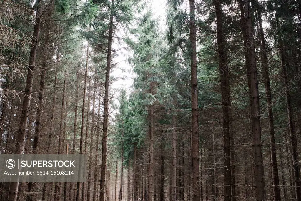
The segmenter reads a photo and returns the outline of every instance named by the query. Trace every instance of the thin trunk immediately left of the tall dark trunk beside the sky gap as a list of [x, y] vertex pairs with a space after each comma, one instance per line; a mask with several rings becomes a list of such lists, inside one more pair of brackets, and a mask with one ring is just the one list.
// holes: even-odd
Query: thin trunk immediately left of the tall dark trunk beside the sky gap
[[97, 187], [97, 175], [98, 175], [98, 141], [99, 141], [99, 125], [100, 125], [100, 95], [98, 96], [98, 120], [97, 120], [97, 130], [96, 130], [96, 147], [95, 147], [95, 159], [94, 159], [94, 181], [93, 181], [93, 201], [96, 200], [96, 187]]

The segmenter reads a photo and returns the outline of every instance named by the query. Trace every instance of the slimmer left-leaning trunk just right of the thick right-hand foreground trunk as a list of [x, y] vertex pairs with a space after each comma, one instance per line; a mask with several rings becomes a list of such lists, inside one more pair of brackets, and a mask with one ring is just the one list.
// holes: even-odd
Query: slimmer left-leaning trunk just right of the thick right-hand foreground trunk
[[[258, 3], [256, 1], [256, 3]], [[278, 176], [278, 166], [277, 166], [277, 155], [276, 155], [276, 146], [275, 146], [275, 130], [274, 130], [274, 115], [273, 115], [273, 106], [272, 106], [272, 89], [270, 85], [270, 76], [268, 72], [268, 57], [266, 50], [266, 43], [264, 38], [264, 32], [262, 28], [262, 19], [261, 19], [261, 8], [257, 9], [258, 11], [258, 23], [259, 23], [259, 33], [260, 33], [260, 42], [262, 47], [261, 61], [262, 61], [262, 70], [263, 70], [263, 79], [265, 84], [265, 95], [268, 107], [268, 119], [270, 126], [270, 143], [271, 143], [271, 157], [272, 157], [272, 178], [273, 178], [273, 193], [274, 200], [281, 200], [280, 188], [279, 188], [279, 176]]]

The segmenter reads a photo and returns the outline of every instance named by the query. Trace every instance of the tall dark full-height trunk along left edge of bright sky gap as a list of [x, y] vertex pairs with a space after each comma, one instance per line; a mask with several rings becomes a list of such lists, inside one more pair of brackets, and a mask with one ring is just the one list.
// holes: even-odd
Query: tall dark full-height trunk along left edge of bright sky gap
[[101, 154], [101, 173], [100, 173], [100, 201], [104, 201], [104, 189], [106, 181], [106, 166], [107, 166], [107, 134], [108, 134], [108, 119], [109, 119], [109, 82], [111, 69], [111, 54], [112, 54], [112, 36], [113, 36], [113, 18], [114, 18], [114, 0], [111, 2], [110, 14], [110, 28], [108, 37], [108, 51], [107, 51], [107, 66], [106, 66], [106, 80], [104, 86], [104, 123], [102, 129], [102, 154]]

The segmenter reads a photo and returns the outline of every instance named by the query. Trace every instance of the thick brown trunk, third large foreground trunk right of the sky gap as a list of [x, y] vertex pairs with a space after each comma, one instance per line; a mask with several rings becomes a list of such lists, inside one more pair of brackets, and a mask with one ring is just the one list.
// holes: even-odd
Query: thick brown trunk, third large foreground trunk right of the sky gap
[[246, 65], [250, 66], [250, 88], [251, 88], [251, 114], [252, 114], [252, 130], [253, 130], [253, 151], [254, 151], [254, 172], [255, 172], [255, 191], [256, 200], [264, 200], [264, 181], [263, 181], [263, 166], [262, 166], [262, 148], [261, 148], [261, 127], [260, 127], [260, 110], [259, 110], [259, 93], [258, 79], [256, 67], [256, 55], [253, 39], [252, 12], [250, 0], [244, 0], [245, 11], [245, 26], [247, 31], [247, 52], [249, 62]]

